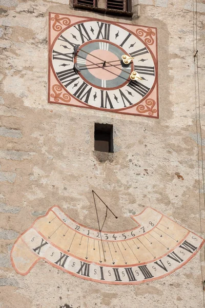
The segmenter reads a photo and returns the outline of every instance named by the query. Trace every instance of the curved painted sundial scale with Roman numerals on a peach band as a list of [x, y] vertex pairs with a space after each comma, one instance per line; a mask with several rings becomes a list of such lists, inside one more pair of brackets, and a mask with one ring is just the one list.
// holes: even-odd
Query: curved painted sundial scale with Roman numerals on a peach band
[[134, 229], [99, 233], [53, 206], [17, 239], [12, 265], [18, 274], [27, 275], [44, 259], [79, 278], [137, 284], [171, 274], [193, 258], [204, 242], [150, 207], [131, 218], [137, 223]]

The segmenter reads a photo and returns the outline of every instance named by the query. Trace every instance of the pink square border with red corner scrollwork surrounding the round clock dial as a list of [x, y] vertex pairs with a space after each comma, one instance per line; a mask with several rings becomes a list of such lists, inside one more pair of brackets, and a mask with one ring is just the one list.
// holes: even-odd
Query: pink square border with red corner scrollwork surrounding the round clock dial
[[[108, 22], [110, 24], [114, 24], [116, 26], [120, 26], [121, 28], [129, 31], [133, 35], [136, 35], [137, 38], [146, 45], [146, 48], [153, 55], [153, 60], [155, 64], [155, 83], [150, 90], [150, 92], [142, 98], [138, 103], [132, 106], [128, 106], [123, 109], [102, 109], [94, 106], [89, 106], [86, 103], [81, 102], [77, 98], [73, 97], [67, 89], [59, 83], [57, 76], [52, 67], [52, 46], [56, 41], [57, 37], [60, 33], [63, 33], [67, 28], [84, 21], [101, 21], [105, 22], [105, 20], [100, 20], [98, 18], [89, 18], [84, 16], [76, 16], [76, 15], [67, 15], [67, 14], [58, 14], [58, 13], [49, 13], [49, 76], [48, 76], [48, 102], [54, 104], [63, 104], [70, 105], [75, 107], [83, 107], [89, 109], [96, 109], [100, 111], [108, 111], [115, 112], [121, 114], [130, 114], [130, 115], [138, 115], [141, 117], [149, 117], [149, 118], [159, 118], [159, 108], [158, 108], [158, 62], [157, 62], [157, 29], [154, 27], [145, 27], [140, 25], [126, 24], [126, 23], [118, 23], [118, 22]], [[59, 91], [54, 85], [59, 85], [62, 88]], [[62, 92], [61, 92], [62, 91]], [[61, 92], [61, 94], [59, 93]], [[67, 96], [68, 95], [68, 96]], [[152, 103], [151, 103], [152, 102]]]

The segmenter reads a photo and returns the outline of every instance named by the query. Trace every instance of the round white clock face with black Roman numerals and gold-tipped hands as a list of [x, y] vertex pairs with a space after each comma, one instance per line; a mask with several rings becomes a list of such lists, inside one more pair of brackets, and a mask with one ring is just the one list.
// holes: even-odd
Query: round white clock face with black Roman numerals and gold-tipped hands
[[[148, 98], [156, 85], [153, 51], [125, 25], [89, 19], [74, 23], [55, 37], [50, 52], [60, 87], [90, 108], [128, 109]], [[126, 64], [123, 55], [133, 59]], [[131, 79], [133, 71], [141, 80]]]

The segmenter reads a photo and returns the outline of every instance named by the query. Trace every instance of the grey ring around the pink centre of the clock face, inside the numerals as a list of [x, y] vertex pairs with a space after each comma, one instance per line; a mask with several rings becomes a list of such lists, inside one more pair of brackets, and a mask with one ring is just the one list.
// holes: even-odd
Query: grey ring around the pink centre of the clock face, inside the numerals
[[[123, 52], [121, 49], [119, 49], [119, 48], [117, 48], [116, 46], [114, 46], [114, 45], [112, 45], [112, 44], [109, 44], [109, 43], [107, 43], [107, 42], [101, 42], [101, 41], [99, 41], [99, 42], [93, 42], [93, 43], [90, 43], [90, 44], [85, 45], [82, 49], [85, 50], [86, 52], [89, 52], [89, 53], [90, 53], [90, 52], [92, 52], [93, 50], [100, 49], [99, 43], [101, 43], [101, 45], [103, 45], [103, 44], [108, 44], [108, 50], [109, 50], [110, 52], [114, 53], [114, 54], [118, 57], [119, 61], [121, 61], [121, 56], [124, 55], [125, 52]], [[82, 65], [82, 64], [80, 63], [80, 59], [85, 59], [85, 60], [86, 60], [87, 55], [88, 55], [87, 53], [83, 52], [83, 51], [80, 50], [80, 48], [79, 48], [79, 51], [78, 51], [78, 53], [77, 53], [77, 64], [78, 64], [79, 67], [80, 67], [80, 66], [84, 66], [84, 65]], [[79, 63], [78, 63], [78, 60], [79, 60]], [[106, 61], [106, 60], [109, 61], [109, 59], [105, 59], [105, 60], [102, 59], [102, 60], [103, 60], [103, 61]], [[99, 60], [99, 62], [100, 62], [100, 60]], [[131, 73], [131, 64], [125, 65], [123, 62], [121, 62], [121, 67], [120, 67], [120, 66], [118, 66], [118, 67], [119, 67], [120, 69], [121, 69], [121, 68], [122, 68], [122, 69], [125, 69], [126, 72], [121, 71], [120, 74], [119, 74], [117, 77], [113, 78], [112, 80], [107, 81], [107, 83], [106, 83], [106, 88], [112, 89], [112, 88], [118, 87], [118, 86], [120, 86], [121, 84], [124, 84], [125, 81], [128, 80], [129, 75], [130, 75], [130, 73]], [[106, 66], [105, 66], [105, 68], [106, 68]], [[97, 69], [97, 68], [96, 68], [96, 69]], [[109, 69], [109, 66], [108, 66], [107, 69]], [[93, 84], [93, 85], [95, 85], [95, 86], [97, 86], [97, 87], [101, 87], [101, 82], [102, 82], [101, 79], [98, 79], [98, 78], [96, 78], [94, 75], [92, 75], [92, 74], [90, 73], [90, 71], [88, 70], [88, 68], [84, 67], [84, 68], [80, 69], [80, 73], [84, 76], [84, 78], [85, 78], [89, 83], [91, 83], [91, 84]]]

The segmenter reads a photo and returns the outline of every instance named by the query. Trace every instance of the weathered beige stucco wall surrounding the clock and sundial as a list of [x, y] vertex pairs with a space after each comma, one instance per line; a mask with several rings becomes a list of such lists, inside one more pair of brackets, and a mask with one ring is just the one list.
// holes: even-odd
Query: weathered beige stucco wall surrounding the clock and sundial
[[[192, 2], [133, 1], [132, 20], [89, 12], [107, 21], [157, 27], [159, 119], [48, 104], [48, 13], [88, 13], [74, 10], [68, 0], [0, 0], [0, 5], [0, 307], [202, 307], [202, 251], [170, 276], [127, 286], [79, 279], [44, 261], [20, 276], [10, 262], [18, 235], [54, 204], [97, 228], [92, 189], [118, 215], [106, 221], [107, 230], [135, 227], [129, 215], [152, 206], [201, 234]], [[204, 1], [198, 1], [201, 98], [204, 17]], [[95, 122], [114, 127], [114, 153], [107, 160], [94, 151]], [[104, 208], [99, 213], [104, 217]], [[204, 226], [204, 211], [201, 221]]]

